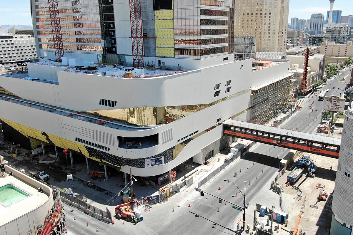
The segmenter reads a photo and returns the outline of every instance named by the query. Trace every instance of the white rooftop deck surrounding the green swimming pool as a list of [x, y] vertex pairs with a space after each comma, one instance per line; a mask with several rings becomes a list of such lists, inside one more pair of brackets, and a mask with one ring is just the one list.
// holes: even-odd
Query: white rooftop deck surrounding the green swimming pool
[[37, 188], [15, 176], [7, 175], [7, 177], [0, 177], [0, 187], [7, 184], [14, 185], [20, 190], [29, 193], [30, 196], [9, 206], [4, 206], [0, 203], [0, 214], [3, 215], [0, 219], [0, 227], [32, 210], [35, 210], [48, 200], [48, 195], [46, 193], [39, 193]]

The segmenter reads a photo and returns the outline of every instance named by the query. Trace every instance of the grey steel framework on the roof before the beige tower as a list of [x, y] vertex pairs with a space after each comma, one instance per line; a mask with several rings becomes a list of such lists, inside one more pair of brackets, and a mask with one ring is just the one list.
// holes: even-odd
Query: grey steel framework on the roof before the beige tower
[[255, 58], [255, 36], [234, 36], [234, 60]]

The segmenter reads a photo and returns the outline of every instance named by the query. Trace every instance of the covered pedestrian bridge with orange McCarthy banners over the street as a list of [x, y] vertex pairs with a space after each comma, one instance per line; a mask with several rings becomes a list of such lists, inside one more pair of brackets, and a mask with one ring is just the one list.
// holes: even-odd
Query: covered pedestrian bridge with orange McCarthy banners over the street
[[232, 119], [223, 122], [223, 134], [334, 158], [338, 158], [341, 145], [337, 138]]

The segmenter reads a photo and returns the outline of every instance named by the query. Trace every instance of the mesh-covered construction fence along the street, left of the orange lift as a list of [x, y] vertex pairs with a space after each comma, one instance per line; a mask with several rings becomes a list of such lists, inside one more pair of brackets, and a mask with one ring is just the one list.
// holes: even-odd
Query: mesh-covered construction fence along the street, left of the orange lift
[[96, 208], [95, 206], [92, 206], [84, 202], [83, 200], [80, 200], [76, 197], [72, 197], [66, 194], [65, 192], [61, 192], [61, 191], [60, 191], [60, 197], [61, 197], [61, 200], [66, 204], [74, 206], [82, 210], [86, 214], [96, 217], [97, 219], [106, 221], [108, 223], [112, 223], [112, 214], [110, 213], [108, 208], [106, 209], [106, 211], [101, 210], [99, 208]]

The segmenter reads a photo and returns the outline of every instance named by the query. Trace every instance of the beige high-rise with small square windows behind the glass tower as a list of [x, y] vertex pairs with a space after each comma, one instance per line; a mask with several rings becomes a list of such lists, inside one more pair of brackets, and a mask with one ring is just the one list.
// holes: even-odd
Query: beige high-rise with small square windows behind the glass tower
[[286, 51], [289, 0], [235, 0], [234, 36], [256, 36], [256, 51]]

